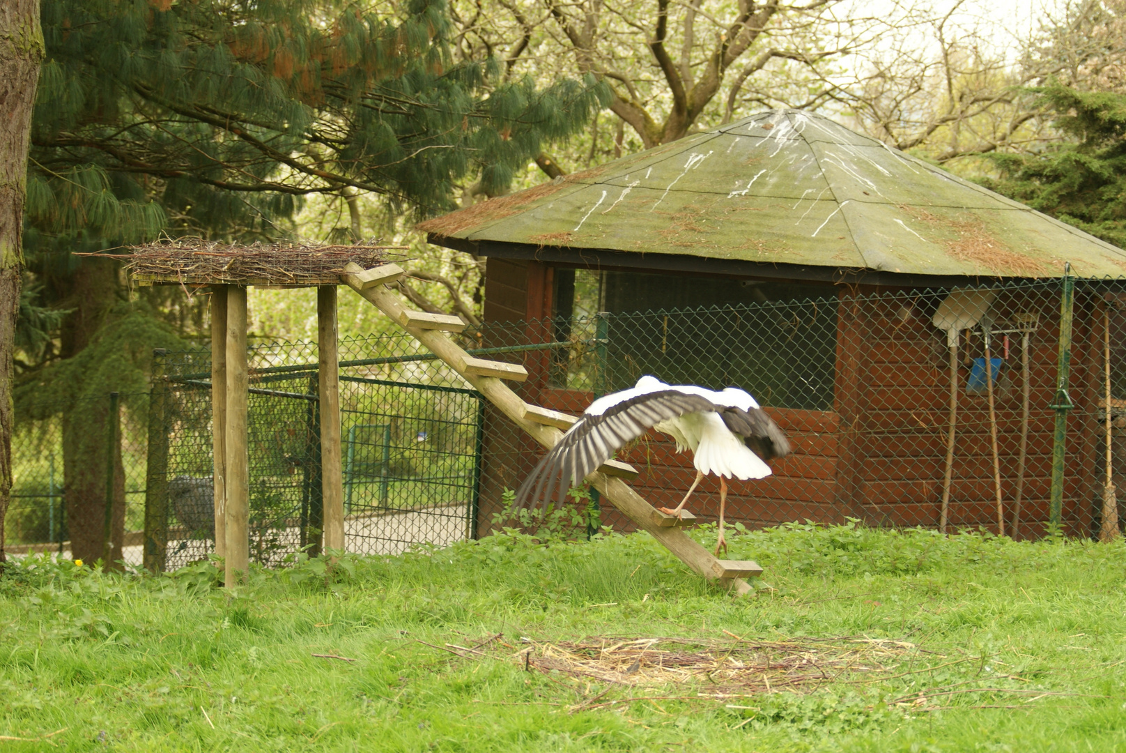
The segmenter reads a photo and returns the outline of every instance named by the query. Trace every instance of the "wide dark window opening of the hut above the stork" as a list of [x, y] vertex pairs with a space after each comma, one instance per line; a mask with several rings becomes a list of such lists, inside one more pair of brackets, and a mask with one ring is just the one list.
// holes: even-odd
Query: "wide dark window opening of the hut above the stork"
[[[580, 330], [593, 336], [598, 322], [588, 325], [578, 316], [579, 285], [570, 284], [571, 310], [565, 312], [563, 303], [555, 311], [570, 321], [566, 336], [581, 340]], [[590, 300], [589, 291], [586, 298]], [[586, 369], [570, 360], [570, 387], [613, 391], [647, 373], [671, 383], [742, 387], [767, 406], [832, 409], [832, 285], [606, 272], [595, 300], [605, 312], [606, 342], [587, 352]], [[589, 307], [587, 301], [582, 308]], [[599, 363], [591, 365], [591, 358]], [[564, 364], [557, 362], [556, 373]]]

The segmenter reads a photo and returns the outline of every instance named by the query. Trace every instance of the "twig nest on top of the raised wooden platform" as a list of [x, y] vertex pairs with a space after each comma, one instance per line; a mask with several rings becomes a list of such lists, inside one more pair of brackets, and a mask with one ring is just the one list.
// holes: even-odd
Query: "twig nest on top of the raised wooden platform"
[[401, 246], [236, 246], [199, 239], [135, 246], [125, 268], [141, 283], [331, 285], [355, 262], [368, 269], [403, 258]]

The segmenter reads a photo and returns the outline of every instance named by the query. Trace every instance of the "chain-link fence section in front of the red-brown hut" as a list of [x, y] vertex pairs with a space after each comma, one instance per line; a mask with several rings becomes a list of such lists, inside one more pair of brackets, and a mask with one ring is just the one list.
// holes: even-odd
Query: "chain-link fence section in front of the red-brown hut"
[[[1063, 532], [1089, 535], [1106, 478], [1107, 334], [1112, 391], [1126, 397], [1126, 283], [1071, 285], [1063, 348], [1061, 280], [960, 290], [838, 286], [814, 300], [491, 325], [482, 338], [493, 347], [540, 343], [542, 351], [520, 354], [530, 375], [517, 391], [556, 410], [577, 413], [642, 374], [757, 396], [794, 452], [769, 478], [730, 485], [730, 521], [855, 517], [950, 531], [997, 531], [1003, 521], [1006, 533], [1027, 538], [1043, 535], [1055, 519]], [[1058, 391], [1062, 358], [1070, 375]], [[1126, 401], [1111, 401], [1119, 480], [1121, 407]], [[542, 455], [499, 411], [485, 414], [482, 532], [502, 508], [502, 491]], [[679, 504], [694, 478], [690, 455], [655, 432], [618, 459], [640, 471], [632, 484], [654, 506]], [[689, 502], [705, 521], [717, 515], [717, 486], [706, 480]], [[629, 528], [613, 511], [602, 522]]]

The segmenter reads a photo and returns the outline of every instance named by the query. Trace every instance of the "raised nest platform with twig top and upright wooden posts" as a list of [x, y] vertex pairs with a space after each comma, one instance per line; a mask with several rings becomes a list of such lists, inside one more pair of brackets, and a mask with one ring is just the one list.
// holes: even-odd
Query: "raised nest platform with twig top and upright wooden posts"
[[316, 287], [324, 547], [343, 549], [337, 285], [346, 265], [377, 266], [384, 262], [385, 250], [375, 246], [226, 246], [204, 241], [133, 249], [126, 267], [138, 284], [209, 289], [212, 293], [215, 553], [224, 559], [227, 586], [245, 578], [250, 564], [247, 289]]

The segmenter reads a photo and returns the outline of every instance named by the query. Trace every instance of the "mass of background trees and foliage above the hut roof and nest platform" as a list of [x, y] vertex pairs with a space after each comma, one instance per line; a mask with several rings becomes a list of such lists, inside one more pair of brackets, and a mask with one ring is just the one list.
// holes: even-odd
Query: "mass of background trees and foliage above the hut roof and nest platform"
[[[1124, 11], [1058, 0], [1015, 25], [985, 0], [44, 0], [17, 398], [27, 417], [65, 411], [68, 468], [95, 469], [69, 494], [100, 515], [104, 463], [82, 461], [100, 433], [82, 427], [104, 416], [86, 406], [143, 393], [152, 348], [199, 338], [207, 301], [131, 290], [83, 253], [160, 233], [384, 238], [411, 247], [414, 305], [473, 321], [486, 262], [427, 247], [414, 220], [765, 107], [820, 109], [1121, 243]], [[343, 333], [383, 326], [341, 303]], [[314, 310], [307, 292], [252, 291], [253, 334], [309, 337]]]

